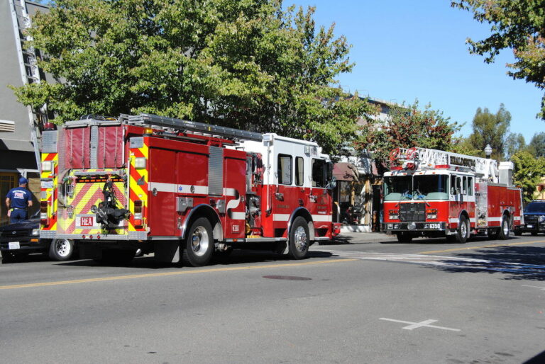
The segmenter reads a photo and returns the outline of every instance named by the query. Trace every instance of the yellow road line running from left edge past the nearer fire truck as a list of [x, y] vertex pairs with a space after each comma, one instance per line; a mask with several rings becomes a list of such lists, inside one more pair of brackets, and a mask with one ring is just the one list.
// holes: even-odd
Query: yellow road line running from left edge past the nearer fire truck
[[305, 262], [305, 263], [269, 264], [267, 266], [209, 268], [209, 269], [196, 269], [196, 270], [192, 270], [192, 271], [173, 271], [173, 272], [165, 272], [165, 273], [118, 275], [118, 276], [114, 276], [114, 277], [87, 278], [87, 279], [77, 279], [77, 280], [57, 280], [57, 281], [54, 281], [54, 282], [28, 283], [26, 285], [0, 285], [0, 290], [13, 290], [15, 288], [48, 287], [50, 285], [73, 285], [73, 284], [76, 284], [76, 283], [104, 282], [104, 281], [109, 281], [109, 280], [123, 280], [123, 279], [134, 279], [134, 278], [165, 277], [167, 275], [228, 272], [228, 271], [244, 271], [244, 270], [248, 270], [248, 269], [281, 268], [281, 267], [292, 267], [292, 266], [312, 266], [312, 265], [316, 265], [316, 264], [341, 263], [341, 262], [345, 262], [345, 261], [357, 261], [357, 260], [358, 259], [331, 259], [329, 261], [309, 261], [309, 262]]

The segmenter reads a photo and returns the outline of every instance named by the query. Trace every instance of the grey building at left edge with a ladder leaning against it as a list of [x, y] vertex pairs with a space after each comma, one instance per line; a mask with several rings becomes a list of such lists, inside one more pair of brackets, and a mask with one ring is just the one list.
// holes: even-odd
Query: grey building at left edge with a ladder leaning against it
[[48, 11], [48, 7], [25, 0], [0, 1], [0, 224], [8, 222], [6, 193], [17, 186], [21, 176], [29, 180], [35, 197], [33, 210], [39, 205], [38, 140], [40, 124], [45, 120], [42, 110], [18, 103], [9, 88], [46, 79], [37, 68], [34, 50], [25, 47], [25, 29], [38, 11]]

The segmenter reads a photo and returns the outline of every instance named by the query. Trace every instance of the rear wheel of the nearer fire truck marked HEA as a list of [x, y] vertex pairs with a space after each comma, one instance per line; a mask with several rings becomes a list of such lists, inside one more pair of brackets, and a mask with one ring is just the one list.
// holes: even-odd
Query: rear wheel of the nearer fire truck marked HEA
[[193, 222], [187, 234], [184, 263], [194, 267], [206, 266], [214, 253], [214, 235], [206, 217]]

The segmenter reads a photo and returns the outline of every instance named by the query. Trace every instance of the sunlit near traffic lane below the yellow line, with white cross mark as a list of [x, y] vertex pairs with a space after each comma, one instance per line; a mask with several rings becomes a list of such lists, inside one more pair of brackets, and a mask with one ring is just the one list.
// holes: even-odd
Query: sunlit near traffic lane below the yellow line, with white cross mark
[[[188, 270], [195, 274], [0, 290], [9, 302], [3, 359], [522, 362], [543, 350], [544, 291], [526, 287], [536, 282], [348, 259]], [[460, 331], [397, 322], [430, 320]]]

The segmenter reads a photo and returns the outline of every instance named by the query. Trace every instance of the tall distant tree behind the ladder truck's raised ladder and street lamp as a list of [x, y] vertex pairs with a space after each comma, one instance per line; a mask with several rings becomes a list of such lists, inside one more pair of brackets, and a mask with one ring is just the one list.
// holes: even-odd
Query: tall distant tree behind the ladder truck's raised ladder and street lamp
[[482, 151], [480, 157], [485, 157], [484, 149], [490, 144], [492, 158], [501, 160], [505, 154], [507, 131], [511, 122], [511, 114], [505, 110], [503, 104], [497, 113], [492, 114], [488, 108], [478, 108], [473, 117], [473, 133], [469, 136], [469, 143], [473, 149]]

